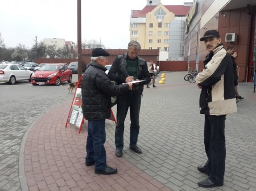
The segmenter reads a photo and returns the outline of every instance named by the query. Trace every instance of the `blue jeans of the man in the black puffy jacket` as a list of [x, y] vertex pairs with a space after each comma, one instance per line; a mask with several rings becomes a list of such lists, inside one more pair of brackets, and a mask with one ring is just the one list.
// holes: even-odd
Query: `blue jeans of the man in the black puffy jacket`
[[95, 162], [95, 169], [106, 168], [106, 141], [105, 119], [88, 121], [88, 135], [86, 142], [86, 163]]

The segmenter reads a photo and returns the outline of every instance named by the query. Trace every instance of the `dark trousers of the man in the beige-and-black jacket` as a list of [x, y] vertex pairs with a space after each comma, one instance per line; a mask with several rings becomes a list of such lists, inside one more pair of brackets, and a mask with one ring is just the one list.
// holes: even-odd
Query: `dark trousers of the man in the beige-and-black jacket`
[[226, 115], [209, 116], [205, 114], [204, 146], [208, 160], [204, 165], [209, 179], [214, 183], [224, 181], [226, 144], [225, 144]]

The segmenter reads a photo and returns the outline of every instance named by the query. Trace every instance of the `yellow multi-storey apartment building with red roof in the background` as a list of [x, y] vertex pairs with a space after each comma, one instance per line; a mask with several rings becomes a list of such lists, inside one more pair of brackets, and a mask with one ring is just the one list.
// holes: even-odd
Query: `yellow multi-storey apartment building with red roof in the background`
[[138, 41], [142, 49], [158, 49], [159, 58], [165, 55], [163, 60], [183, 57], [185, 16], [191, 3], [163, 5], [160, 0], [146, 1], [142, 10], [131, 10], [130, 40]]

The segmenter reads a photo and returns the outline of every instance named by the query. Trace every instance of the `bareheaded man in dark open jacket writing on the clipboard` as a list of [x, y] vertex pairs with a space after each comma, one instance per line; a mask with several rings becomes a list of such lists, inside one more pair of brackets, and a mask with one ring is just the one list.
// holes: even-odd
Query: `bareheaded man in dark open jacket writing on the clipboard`
[[130, 107], [130, 150], [140, 154], [141, 149], [137, 146], [139, 135], [139, 110], [144, 84], [150, 82], [150, 74], [147, 70], [147, 62], [138, 57], [141, 45], [137, 41], [128, 44], [128, 52], [115, 58], [109, 70], [108, 77], [118, 84], [143, 80], [135, 83], [132, 91], [124, 92], [117, 96], [117, 126], [115, 126], [115, 155], [121, 157], [123, 150], [123, 131], [125, 118]]

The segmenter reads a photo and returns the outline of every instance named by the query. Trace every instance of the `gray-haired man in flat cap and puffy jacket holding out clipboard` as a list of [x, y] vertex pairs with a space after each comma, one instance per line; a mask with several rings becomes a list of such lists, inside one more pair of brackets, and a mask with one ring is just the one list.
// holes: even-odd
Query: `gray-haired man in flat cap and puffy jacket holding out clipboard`
[[92, 51], [92, 62], [82, 77], [82, 113], [88, 120], [85, 165], [95, 164], [96, 174], [112, 175], [116, 168], [106, 164], [105, 120], [110, 118], [111, 96], [131, 90], [133, 84], [115, 85], [105, 74], [110, 54], [102, 48]]

